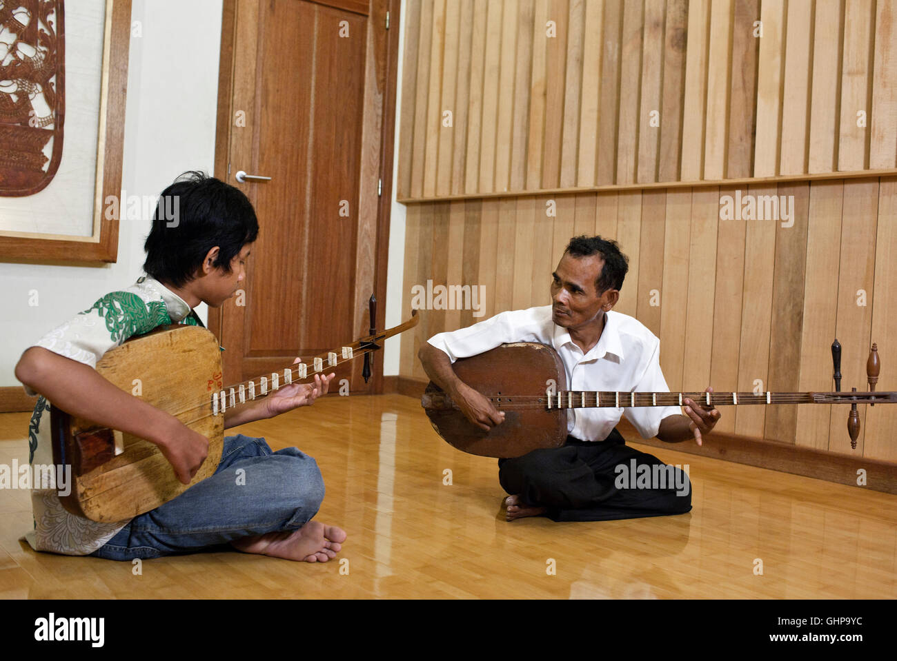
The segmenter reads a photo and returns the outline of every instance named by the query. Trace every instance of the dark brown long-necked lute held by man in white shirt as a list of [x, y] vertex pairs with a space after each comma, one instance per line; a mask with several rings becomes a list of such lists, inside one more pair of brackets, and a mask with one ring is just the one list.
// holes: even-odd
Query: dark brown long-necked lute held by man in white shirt
[[571, 408], [684, 406], [685, 399], [710, 407], [779, 404], [849, 404], [850, 445], [857, 447], [859, 404], [897, 403], [897, 392], [876, 392], [881, 365], [872, 345], [867, 360], [868, 392], [840, 392], [840, 343], [832, 344], [832, 392], [614, 392], [569, 391], [561, 356], [536, 342], [515, 342], [453, 366], [461, 381], [483, 394], [505, 414], [501, 425], [484, 431], [471, 423], [439, 386], [428, 384], [422, 407], [437, 434], [458, 450], [483, 457], [519, 457], [538, 448], [556, 448], [567, 439]]

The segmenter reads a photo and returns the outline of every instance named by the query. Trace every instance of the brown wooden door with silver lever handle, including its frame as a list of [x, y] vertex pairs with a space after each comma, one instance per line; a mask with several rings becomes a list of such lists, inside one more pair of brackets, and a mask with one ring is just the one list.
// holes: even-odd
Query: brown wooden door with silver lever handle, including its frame
[[[226, 0], [216, 176], [255, 206], [245, 294], [210, 311], [224, 378], [283, 369], [383, 327], [397, 11], [388, 0]], [[387, 27], [387, 12], [392, 30]], [[240, 183], [238, 172], [270, 181]], [[352, 391], [361, 360], [336, 369]], [[336, 383], [334, 384], [334, 386]]]

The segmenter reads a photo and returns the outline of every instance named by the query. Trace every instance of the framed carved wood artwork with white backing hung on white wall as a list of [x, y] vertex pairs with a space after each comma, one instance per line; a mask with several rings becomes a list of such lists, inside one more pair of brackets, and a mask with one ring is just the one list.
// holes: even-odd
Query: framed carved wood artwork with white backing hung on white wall
[[115, 262], [131, 0], [0, 0], [0, 261]]

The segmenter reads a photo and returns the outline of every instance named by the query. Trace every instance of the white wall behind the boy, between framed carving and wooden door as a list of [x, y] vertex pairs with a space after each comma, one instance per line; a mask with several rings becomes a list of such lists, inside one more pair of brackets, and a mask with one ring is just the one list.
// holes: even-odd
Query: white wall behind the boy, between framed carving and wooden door
[[[158, 196], [185, 170], [213, 169], [222, 0], [134, 0], [132, 21], [141, 36], [130, 47], [122, 189]], [[35, 340], [141, 275], [149, 228], [120, 223], [114, 264], [0, 262], [0, 386], [19, 385], [13, 369]]]

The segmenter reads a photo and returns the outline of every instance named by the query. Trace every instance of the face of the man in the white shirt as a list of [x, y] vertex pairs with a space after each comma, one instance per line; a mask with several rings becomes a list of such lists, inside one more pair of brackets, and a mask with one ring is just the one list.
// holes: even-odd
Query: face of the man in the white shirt
[[[579, 330], [590, 324], [600, 324], [605, 310], [616, 303], [608, 288], [598, 294], [595, 283], [605, 261], [601, 255], [571, 257], [564, 253], [552, 274], [552, 320], [562, 328]], [[611, 301], [613, 298], [613, 301]]]

